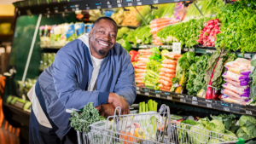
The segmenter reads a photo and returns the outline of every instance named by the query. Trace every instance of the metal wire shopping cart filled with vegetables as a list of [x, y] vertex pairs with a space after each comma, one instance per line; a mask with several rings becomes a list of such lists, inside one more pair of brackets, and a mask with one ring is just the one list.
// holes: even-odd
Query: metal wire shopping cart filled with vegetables
[[79, 144], [242, 144], [236, 137], [205, 130], [200, 125], [171, 121], [166, 105], [159, 112], [119, 114], [90, 124], [89, 132], [77, 131]]

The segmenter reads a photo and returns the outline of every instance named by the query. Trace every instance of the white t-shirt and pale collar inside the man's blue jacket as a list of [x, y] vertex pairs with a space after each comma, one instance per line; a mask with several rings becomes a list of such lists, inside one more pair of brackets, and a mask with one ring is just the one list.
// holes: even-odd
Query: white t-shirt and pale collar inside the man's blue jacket
[[[84, 44], [87, 46], [87, 48], [90, 51], [89, 34], [85, 33], [84, 35], [80, 36], [79, 39], [84, 42]], [[98, 78], [98, 73], [100, 71], [103, 59], [97, 59], [96, 57], [91, 55], [91, 52], [90, 52], [90, 58], [91, 58], [91, 62], [92, 62], [92, 65], [93, 65], [93, 71], [91, 73], [90, 84], [89, 84], [87, 90], [88, 91], [93, 91], [93, 90], [96, 89], [96, 80]]]

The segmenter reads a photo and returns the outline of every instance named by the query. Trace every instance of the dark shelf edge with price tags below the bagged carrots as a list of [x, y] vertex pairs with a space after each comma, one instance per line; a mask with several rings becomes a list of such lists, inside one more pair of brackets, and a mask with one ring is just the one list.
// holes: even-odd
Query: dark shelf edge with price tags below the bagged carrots
[[253, 106], [244, 106], [225, 101], [207, 100], [201, 97], [195, 97], [186, 94], [177, 94], [168, 91], [137, 87], [137, 95], [155, 97], [169, 101], [176, 101], [184, 104], [193, 105], [195, 107], [207, 107], [218, 111], [256, 116], [256, 108]]

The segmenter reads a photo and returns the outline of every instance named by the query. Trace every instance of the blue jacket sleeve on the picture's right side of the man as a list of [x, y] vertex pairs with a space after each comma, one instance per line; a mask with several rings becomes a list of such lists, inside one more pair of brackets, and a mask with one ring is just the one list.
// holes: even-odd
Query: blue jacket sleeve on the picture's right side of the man
[[136, 87], [135, 87], [135, 73], [131, 64], [130, 55], [125, 52], [125, 58], [122, 63], [122, 69], [115, 84], [114, 93], [125, 97], [128, 104], [131, 106], [136, 99]]

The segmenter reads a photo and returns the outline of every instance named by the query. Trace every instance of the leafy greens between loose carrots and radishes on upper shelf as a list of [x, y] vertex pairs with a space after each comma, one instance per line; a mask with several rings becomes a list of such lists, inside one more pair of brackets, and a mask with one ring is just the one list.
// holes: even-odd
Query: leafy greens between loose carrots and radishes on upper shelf
[[208, 19], [189, 20], [172, 26], [166, 26], [166, 28], [157, 32], [156, 35], [160, 37], [162, 43], [178, 42], [182, 44], [182, 47], [191, 48], [198, 44], [197, 39], [199, 39], [204, 22]]

